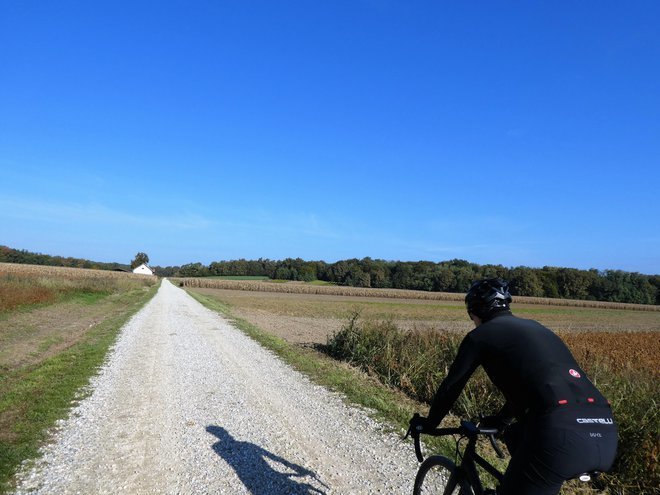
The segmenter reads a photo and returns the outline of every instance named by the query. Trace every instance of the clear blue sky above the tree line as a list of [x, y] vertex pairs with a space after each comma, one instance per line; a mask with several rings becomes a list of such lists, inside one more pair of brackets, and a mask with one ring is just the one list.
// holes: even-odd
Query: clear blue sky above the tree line
[[660, 3], [0, 0], [0, 244], [660, 273]]

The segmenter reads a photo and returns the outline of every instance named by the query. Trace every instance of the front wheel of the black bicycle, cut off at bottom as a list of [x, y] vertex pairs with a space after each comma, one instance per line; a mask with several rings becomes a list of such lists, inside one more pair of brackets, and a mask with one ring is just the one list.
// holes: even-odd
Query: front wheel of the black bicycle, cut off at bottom
[[472, 495], [470, 484], [452, 461], [440, 455], [426, 459], [417, 471], [413, 495]]

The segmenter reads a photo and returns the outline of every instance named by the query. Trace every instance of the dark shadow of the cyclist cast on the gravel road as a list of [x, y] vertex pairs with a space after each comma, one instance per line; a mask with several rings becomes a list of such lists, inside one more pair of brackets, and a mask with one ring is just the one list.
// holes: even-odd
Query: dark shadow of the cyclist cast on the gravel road
[[[295, 477], [311, 477], [327, 488], [316, 473], [269, 452], [250, 442], [241, 442], [220, 426], [207, 426], [206, 431], [218, 438], [212, 449], [229, 464], [252, 495], [320, 494], [324, 491]], [[270, 463], [268, 462], [270, 461]], [[280, 470], [271, 467], [278, 465]]]

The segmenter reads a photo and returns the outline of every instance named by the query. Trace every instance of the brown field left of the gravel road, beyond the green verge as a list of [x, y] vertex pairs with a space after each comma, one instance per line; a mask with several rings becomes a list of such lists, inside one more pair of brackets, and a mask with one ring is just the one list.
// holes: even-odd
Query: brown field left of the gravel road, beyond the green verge
[[[157, 282], [132, 273], [0, 263], [0, 370], [33, 365], [71, 347], [90, 328], [124, 312], [127, 293]], [[66, 297], [72, 293], [83, 297]]]

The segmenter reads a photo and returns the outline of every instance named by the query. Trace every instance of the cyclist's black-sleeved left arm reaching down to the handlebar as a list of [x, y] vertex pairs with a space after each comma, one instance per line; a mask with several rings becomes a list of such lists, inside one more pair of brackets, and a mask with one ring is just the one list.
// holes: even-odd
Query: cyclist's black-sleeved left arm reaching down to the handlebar
[[467, 335], [458, 348], [456, 359], [449, 368], [447, 376], [438, 387], [427, 418], [428, 426], [435, 428], [447, 415], [451, 406], [460, 395], [463, 387], [480, 364], [476, 344]]

